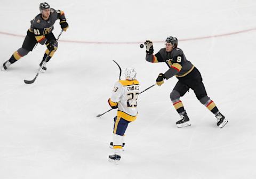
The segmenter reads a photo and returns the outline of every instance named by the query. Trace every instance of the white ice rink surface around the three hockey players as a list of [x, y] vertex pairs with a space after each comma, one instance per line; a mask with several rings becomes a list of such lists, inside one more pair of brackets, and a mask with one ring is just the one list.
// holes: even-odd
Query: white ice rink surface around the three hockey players
[[[1, 179], [256, 178], [255, 1], [47, 2], [65, 12], [69, 29], [34, 84], [23, 79], [34, 78], [45, 46], [0, 72]], [[1, 2], [1, 63], [21, 47], [39, 3]], [[54, 27], [58, 36], [58, 22]], [[116, 111], [95, 117], [109, 109], [118, 80], [112, 60], [137, 69], [142, 91], [168, 68], [147, 62], [139, 45], [151, 39], [156, 53], [168, 36], [180, 39], [229, 123], [218, 128], [190, 90], [181, 100], [191, 126], [177, 128], [173, 77], [139, 96], [139, 116], [127, 128], [120, 164], [113, 165], [108, 145]]]

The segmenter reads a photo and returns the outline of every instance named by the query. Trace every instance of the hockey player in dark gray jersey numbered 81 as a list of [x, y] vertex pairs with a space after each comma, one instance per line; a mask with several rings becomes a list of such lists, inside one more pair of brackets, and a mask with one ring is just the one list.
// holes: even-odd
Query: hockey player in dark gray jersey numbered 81
[[[53, 25], [55, 21], [59, 19], [61, 28], [66, 31], [68, 29], [68, 23], [63, 11], [54, 10], [47, 3], [40, 3], [39, 11], [41, 13], [36, 15], [36, 17], [30, 21], [31, 26], [27, 31], [27, 35], [22, 47], [15, 51], [9, 60], [3, 63], [1, 68], [2, 70], [6, 70], [12, 63], [17, 62], [20, 58], [27, 55], [29, 51], [33, 50], [37, 43], [40, 43], [41, 45], [45, 44], [47, 47], [43, 60], [39, 66], [43, 65], [43, 61], [46, 59], [47, 55], [49, 55], [49, 57], [47, 58], [46, 62], [52, 58], [54, 52], [58, 48], [58, 43], [56, 43], [54, 46], [56, 38], [52, 33]], [[42, 70], [45, 71], [46, 67], [42, 67]]]

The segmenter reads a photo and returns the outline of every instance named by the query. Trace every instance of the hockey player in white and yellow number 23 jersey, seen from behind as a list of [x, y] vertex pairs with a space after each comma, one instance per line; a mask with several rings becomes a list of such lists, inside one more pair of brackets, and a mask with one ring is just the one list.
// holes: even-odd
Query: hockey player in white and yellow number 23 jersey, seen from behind
[[125, 69], [125, 80], [115, 83], [111, 98], [108, 103], [111, 108], [117, 108], [117, 116], [114, 118], [113, 145], [114, 154], [109, 156], [109, 161], [118, 164], [123, 151], [123, 136], [128, 124], [137, 118], [137, 99], [139, 95], [139, 82], [135, 79], [134, 68]]

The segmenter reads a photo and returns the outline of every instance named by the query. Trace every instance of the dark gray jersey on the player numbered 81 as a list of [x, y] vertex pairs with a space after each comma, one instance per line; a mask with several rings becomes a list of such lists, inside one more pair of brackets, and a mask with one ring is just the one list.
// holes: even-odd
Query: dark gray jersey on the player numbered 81
[[29, 31], [34, 33], [38, 43], [44, 44], [47, 40], [45, 35], [52, 32], [54, 29], [53, 25], [58, 19], [65, 19], [65, 14], [63, 11], [51, 9], [51, 14], [47, 21], [42, 18], [41, 14], [38, 14], [33, 20], [30, 21], [31, 26]]

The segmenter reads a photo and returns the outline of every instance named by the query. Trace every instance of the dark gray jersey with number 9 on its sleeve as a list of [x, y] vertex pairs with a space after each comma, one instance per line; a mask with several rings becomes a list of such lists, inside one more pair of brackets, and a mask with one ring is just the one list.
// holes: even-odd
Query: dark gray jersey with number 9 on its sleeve
[[151, 63], [165, 62], [170, 68], [165, 72], [167, 79], [173, 77], [184, 77], [194, 69], [193, 64], [186, 59], [180, 48], [174, 48], [171, 52], [166, 52], [165, 48], [161, 48], [155, 55], [147, 54], [146, 60]]

